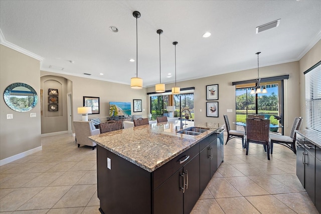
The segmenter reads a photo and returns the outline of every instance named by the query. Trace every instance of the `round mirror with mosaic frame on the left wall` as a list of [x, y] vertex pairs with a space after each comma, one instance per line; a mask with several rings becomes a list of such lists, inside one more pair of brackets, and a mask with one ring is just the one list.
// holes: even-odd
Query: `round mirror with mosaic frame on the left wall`
[[28, 84], [13, 83], [6, 88], [4, 99], [12, 110], [26, 112], [37, 105], [38, 95], [35, 89]]

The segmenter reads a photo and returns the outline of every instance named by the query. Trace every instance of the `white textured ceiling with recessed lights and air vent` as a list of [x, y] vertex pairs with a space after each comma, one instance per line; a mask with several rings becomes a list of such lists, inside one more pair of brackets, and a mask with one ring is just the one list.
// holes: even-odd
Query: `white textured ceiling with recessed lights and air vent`
[[[1, 0], [0, 29], [6, 42], [44, 58], [41, 70], [129, 85], [136, 73], [136, 62], [129, 62], [136, 58], [133, 11], [141, 13], [138, 77], [144, 87], [159, 83], [158, 29], [164, 31], [162, 83], [175, 81], [174, 41], [177, 81], [183, 81], [256, 68], [259, 51], [260, 67], [297, 61], [321, 38], [321, 1]], [[255, 33], [277, 19], [279, 27]], [[212, 35], [202, 38], [207, 31]]]

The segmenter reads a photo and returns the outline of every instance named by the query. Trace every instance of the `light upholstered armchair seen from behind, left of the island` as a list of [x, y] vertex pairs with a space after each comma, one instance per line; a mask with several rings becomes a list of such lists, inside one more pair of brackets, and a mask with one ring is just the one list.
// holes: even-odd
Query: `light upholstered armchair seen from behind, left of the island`
[[73, 121], [76, 142], [78, 147], [81, 145], [91, 146], [92, 149], [96, 147], [96, 143], [92, 142], [88, 137], [100, 134], [100, 130], [96, 129], [92, 121]]

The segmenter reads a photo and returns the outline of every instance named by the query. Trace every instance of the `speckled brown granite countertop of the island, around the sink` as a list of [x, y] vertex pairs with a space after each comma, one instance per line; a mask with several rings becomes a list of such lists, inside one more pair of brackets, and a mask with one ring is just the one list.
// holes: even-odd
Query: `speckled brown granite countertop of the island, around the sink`
[[[175, 126], [180, 130], [180, 121], [176, 120], [121, 129], [89, 138], [105, 149], [152, 172], [217, 129], [224, 127], [218, 123], [193, 121], [186, 123], [187, 127], [195, 126], [209, 130], [195, 136], [176, 133]], [[183, 129], [185, 128], [184, 126]]]

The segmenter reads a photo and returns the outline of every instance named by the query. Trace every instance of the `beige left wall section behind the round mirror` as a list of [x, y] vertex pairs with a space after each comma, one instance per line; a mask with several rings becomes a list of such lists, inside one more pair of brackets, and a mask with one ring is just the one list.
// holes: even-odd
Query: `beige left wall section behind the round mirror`
[[[17, 112], [7, 106], [4, 91], [12, 83], [26, 83], [40, 97], [40, 62], [0, 45], [0, 159], [41, 146], [40, 100], [29, 112]], [[30, 117], [36, 113], [36, 117]], [[13, 119], [7, 119], [13, 114]]]

